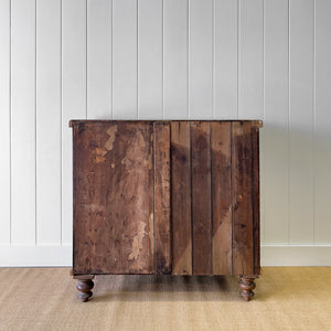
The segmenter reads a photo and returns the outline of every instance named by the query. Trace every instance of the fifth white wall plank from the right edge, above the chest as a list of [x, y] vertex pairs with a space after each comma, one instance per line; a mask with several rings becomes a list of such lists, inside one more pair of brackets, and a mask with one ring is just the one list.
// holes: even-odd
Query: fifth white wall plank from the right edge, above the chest
[[236, 118], [238, 108], [238, 1], [215, 1], [214, 116]]

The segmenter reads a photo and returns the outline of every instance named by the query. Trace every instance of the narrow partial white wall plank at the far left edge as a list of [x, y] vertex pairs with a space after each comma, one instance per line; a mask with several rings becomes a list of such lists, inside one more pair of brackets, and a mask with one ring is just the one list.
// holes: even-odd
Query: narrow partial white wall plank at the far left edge
[[10, 0], [0, 1], [0, 245], [10, 244]]

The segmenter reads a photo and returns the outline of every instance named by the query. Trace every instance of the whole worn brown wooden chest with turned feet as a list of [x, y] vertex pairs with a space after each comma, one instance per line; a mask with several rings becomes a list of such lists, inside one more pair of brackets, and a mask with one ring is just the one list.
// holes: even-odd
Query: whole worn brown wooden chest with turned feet
[[255, 120], [72, 120], [73, 277], [237, 275], [259, 263]]

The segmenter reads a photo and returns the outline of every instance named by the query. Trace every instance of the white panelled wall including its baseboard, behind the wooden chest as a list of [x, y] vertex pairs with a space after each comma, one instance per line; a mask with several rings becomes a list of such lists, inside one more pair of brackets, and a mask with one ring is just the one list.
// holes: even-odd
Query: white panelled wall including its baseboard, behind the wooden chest
[[255, 118], [263, 265], [331, 265], [331, 1], [0, 0], [0, 265], [71, 265], [72, 118]]

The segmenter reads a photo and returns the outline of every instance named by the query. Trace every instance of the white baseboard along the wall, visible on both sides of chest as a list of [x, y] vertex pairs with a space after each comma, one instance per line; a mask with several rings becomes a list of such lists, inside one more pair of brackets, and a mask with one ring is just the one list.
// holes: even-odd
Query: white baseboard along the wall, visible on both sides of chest
[[[72, 246], [0, 246], [0, 267], [71, 267]], [[261, 246], [261, 266], [331, 266], [330, 246]]]

